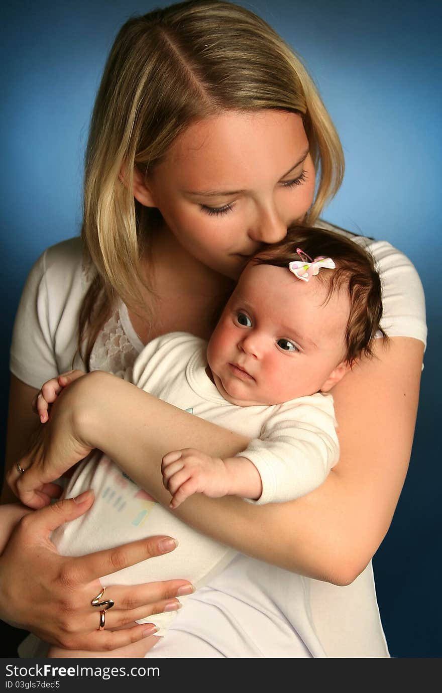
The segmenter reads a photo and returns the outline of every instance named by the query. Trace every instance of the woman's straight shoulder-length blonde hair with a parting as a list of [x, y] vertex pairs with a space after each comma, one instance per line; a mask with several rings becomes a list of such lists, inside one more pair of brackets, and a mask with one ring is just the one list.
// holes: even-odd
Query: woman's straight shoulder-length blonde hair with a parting
[[318, 179], [306, 217], [312, 224], [342, 182], [344, 156], [312, 79], [282, 38], [253, 12], [216, 0], [153, 10], [121, 28], [98, 90], [86, 154], [82, 238], [97, 270], [80, 313], [87, 355], [114, 295], [141, 308], [141, 286], [148, 288], [140, 258], [159, 212], [134, 200], [134, 166], [152, 170], [199, 119], [265, 108], [303, 118]]

